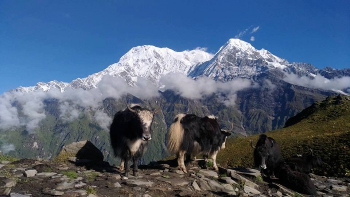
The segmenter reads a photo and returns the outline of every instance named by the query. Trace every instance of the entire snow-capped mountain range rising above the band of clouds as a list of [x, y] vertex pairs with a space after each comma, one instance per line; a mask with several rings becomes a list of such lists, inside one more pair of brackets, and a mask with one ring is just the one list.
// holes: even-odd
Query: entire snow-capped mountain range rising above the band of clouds
[[[57, 87], [64, 91], [66, 87], [90, 89], [98, 85], [105, 75], [119, 76], [128, 84], [133, 85], [137, 77], [146, 78], [157, 84], [161, 74], [179, 72], [191, 77], [206, 75], [219, 81], [229, 81], [237, 77], [255, 80], [262, 73], [274, 73], [282, 77], [283, 71], [299, 76], [314, 76], [325, 74], [334, 77], [336, 73], [350, 75], [348, 70], [342, 72], [327, 68], [322, 71], [310, 63], [288, 62], [286, 59], [273, 55], [265, 49], [256, 49], [250, 43], [240, 39], [229, 39], [213, 55], [200, 49], [176, 52], [169, 48], [158, 48], [152, 45], [136, 46], [125, 53], [117, 63], [106, 69], [93, 73], [85, 78], [77, 78], [70, 83], [50, 81], [39, 82], [35, 86], [18, 87], [15, 91], [47, 91]], [[345, 73], [345, 74], [344, 74]]]

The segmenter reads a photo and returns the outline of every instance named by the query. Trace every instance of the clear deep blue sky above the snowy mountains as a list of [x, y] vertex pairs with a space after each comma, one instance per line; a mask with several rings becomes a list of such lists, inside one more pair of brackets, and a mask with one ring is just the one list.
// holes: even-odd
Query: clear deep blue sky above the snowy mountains
[[350, 67], [349, 10], [350, 0], [0, 0], [0, 94], [86, 77], [137, 45], [214, 53], [245, 29], [240, 39], [288, 61]]

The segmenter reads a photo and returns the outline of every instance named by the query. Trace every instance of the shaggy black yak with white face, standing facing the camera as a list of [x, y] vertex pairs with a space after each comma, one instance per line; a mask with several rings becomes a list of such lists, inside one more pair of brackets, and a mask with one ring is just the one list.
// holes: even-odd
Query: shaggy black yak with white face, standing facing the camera
[[143, 156], [151, 140], [151, 130], [154, 114], [160, 111], [142, 108], [137, 104], [128, 106], [114, 114], [110, 125], [110, 142], [114, 155], [121, 158], [120, 170], [124, 168], [125, 176], [129, 175], [129, 161], [132, 158], [134, 176], [137, 176], [137, 160]]

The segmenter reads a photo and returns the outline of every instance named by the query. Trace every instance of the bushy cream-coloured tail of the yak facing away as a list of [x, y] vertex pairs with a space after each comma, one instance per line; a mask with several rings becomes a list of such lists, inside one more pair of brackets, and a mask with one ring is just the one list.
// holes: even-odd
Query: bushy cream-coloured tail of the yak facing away
[[180, 121], [185, 115], [186, 114], [184, 113], [177, 114], [169, 127], [169, 131], [167, 132], [167, 151], [170, 153], [175, 154], [180, 149], [183, 138], [183, 127]]

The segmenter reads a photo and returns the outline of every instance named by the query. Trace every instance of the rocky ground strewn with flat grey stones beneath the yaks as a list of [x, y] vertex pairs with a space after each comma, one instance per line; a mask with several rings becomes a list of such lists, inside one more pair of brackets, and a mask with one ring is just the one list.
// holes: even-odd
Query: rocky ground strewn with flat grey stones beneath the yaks
[[[86, 160], [85, 160], [86, 161]], [[139, 176], [123, 176], [107, 162], [70, 158], [53, 162], [37, 158], [1, 161], [1, 196], [302, 196], [262, 180], [254, 169], [201, 169], [200, 160], [188, 164], [188, 173], [175, 162], [139, 166]], [[349, 196], [350, 180], [310, 174], [319, 196]]]

